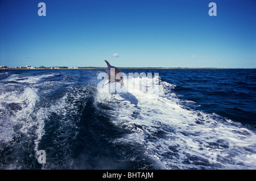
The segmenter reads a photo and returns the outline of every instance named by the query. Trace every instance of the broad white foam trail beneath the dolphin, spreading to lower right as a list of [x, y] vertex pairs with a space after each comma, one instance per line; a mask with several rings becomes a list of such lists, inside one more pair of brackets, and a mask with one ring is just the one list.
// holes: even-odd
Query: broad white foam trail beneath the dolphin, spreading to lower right
[[[140, 81], [143, 78], [134, 78], [135, 83]], [[113, 143], [140, 145], [162, 169], [256, 169], [256, 154], [251, 151], [256, 148], [255, 132], [214, 113], [181, 106], [171, 91], [174, 87], [160, 81], [159, 94], [99, 91], [96, 103], [111, 105], [114, 110], [105, 111], [113, 115], [113, 123], [130, 131]], [[210, 163], [212, 155], [216, 162]]]

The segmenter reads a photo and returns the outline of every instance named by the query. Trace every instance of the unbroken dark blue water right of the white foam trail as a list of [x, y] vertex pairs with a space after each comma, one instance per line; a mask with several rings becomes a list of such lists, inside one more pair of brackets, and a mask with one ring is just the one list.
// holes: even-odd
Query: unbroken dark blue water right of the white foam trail
[[256, 123], [255, 69], [167, 70], [162, 79], [176, 85], [177, 95], [195, 102], [198, 110]]

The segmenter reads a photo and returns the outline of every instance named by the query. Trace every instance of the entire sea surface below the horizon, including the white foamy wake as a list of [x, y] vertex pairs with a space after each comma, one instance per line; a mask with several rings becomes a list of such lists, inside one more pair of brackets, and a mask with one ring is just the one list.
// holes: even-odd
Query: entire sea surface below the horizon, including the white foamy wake
[[256, 169], [255, 69], [104, 71], [0, 70], [0, 169]]

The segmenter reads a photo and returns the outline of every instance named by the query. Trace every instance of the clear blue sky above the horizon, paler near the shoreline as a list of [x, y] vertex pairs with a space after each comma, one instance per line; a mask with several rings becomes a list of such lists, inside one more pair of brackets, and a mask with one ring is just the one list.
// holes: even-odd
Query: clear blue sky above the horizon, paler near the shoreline
[[0, 65], [256, 68], [255, 9], [255, 0], [1, 0]]

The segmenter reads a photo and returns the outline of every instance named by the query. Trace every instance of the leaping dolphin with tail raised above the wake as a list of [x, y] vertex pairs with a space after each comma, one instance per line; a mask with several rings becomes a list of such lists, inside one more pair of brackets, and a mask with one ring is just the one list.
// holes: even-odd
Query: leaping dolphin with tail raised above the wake
[[[105, 60], [105, 62], [108, 65], [108, 68], [105, 71], [106, 77], [109, 79], [108, 83], [118, 82], [122, 86], [125, 86], [125, 84], [123, 83], [123, 74], [121, 73], [121, 71], [115, 66], [110, 65], [108, 61]], [[106, 83], [106, 85], [108, 83]]]

